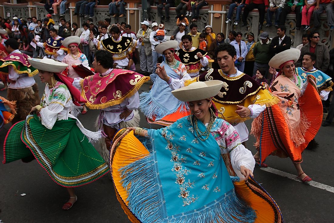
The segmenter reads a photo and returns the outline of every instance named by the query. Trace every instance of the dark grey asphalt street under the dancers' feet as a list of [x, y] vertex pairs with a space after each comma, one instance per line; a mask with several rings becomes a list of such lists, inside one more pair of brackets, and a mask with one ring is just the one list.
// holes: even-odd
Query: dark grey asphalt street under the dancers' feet
[[[35, 76], [42, 95], [44, 84]], [[144, 84], [139, 93], [148, 91], [149, 85]], [[6, 97], [7, 92], [0, 92]], [[78, 118], [82, 124], [94, 129], [94, 121], [99, 114], [98, 110], [88, 110], [87, 114]], [[246, 122], [251, 128], [251, 120]], [[159, 128], [158, 125], [149, 125], [141, 114], [141, 127]], [[0, 132], [0, 143], [4, 138], [10, 124], [4, 126]], [[319, 147], [314, 150], [305, 150], [302, 168], [315, 182], [328, 185], [326, 191], [317, 187], [294, 181], [287, 177], [279, 176], [261, 170], [258, 166], [254, 170], [255, 180], [260, 183], [280, 206], [283, 218], [288, 223], [319, 223], [332, 222], [334, 218], [334, 124], [321, 127], [316, 141]], [[249, 137], [246, 147], [255, 154], [253, 146], [255, 139]], [[3, 157], [3, 150], [0, 152]], [[3, 158], [1, 158], [2, 160]], [[296, 170], [289, 158], [281, 159], [270, 156], [266, 163], [274, 169], [296, 175]], [[66, 190], [55, 184], [36, 160], [23, 163], [20, 160], [0, 164], [0, 222], [26, 223], [26, 222], [130, 222], [118, 203], [113, 183], [109, 174], [101, 179], [75, 189], [77, 202], [67, 211], [61, 209], [67, 201]], [[25, 193], [25, 196], [20, 196]]]

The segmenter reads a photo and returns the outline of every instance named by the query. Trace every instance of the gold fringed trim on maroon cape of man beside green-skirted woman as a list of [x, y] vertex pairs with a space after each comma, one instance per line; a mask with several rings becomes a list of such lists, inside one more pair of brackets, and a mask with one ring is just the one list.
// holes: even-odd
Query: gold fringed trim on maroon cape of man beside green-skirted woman
[[[150, 80], [150, 77], [143, 77], [140, 81], [138, 81], [138, 83], [136, 84], [136, 86], [130, 90], [127, 94], [123, 95], [122, 98], [111, 101], [111, 102], [107, 102], [104, 104], [91, 104], [89, 102], [89, 100], [87, 99], [85, 92], [81, 91], [81, 96], [87, 101], [86, 102], [86, 106], [90, 109], [104, 109], [104, 108], [108, 108], [110, 106], [114, 106], [114, 105], [119, 105], [121, 104], [126, 98], [130, 98], [131, 96], [133, 96], [138, 90], [139, 88], [147, 81]], [[82, 83], [81, 83], [82, 86]]]

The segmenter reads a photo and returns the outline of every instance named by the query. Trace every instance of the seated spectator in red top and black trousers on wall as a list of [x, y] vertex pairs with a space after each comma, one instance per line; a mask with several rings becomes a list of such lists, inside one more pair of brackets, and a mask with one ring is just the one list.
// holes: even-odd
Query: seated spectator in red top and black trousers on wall
[[[249, 12], [257, 8], [259, 10], [259, 15], [260, 15], [259, 29], [262, 29], [263, 21], [265, 20], [266, 7], [268, 7], [268, 0], [253, 0], [252, 3], [251, 3], [251, 0], [246, 0], [245, 7], [243, 9], [243, 14], [242, 14], [242, 25], [241, 26], [247, 25], [247, 17], [248, 17]], [[253, 24], [253, 25], [257, 25], [257, 24]]]

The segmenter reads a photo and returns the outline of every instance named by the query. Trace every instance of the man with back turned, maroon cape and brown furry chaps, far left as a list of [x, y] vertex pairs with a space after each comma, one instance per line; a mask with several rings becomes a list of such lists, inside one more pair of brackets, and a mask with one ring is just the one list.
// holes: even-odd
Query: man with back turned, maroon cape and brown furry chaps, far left
[[7, 99], [16, 101], [17, 114], [12, 123], [24, 120], [30, 109], [39, 103], [38, 86], [33, 78], [38, 71], [28, 62], [29, 56], [18, 50], [16, 39], [5, 41], [6, 51], [1, 51], [0, 72], [8, 75], [10, 81], [7, 89]]

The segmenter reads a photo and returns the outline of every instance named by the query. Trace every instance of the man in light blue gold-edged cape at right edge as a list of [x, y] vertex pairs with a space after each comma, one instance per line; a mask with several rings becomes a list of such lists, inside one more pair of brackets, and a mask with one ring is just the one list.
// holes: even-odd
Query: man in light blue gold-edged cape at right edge
[[329, 92], [332, 91], [333, 81], [327, 74], [314, 68], [316, 59], [316, 54], [306, 52], [303, 55], [303, 66], [296, 68], [296, 74], [302, 78], [303, 83], [306, 82], [308, 75], [314, 76], [317, 80], [317, 88], [320, 94], [320, 99], [326, 101], [328, 99]]

